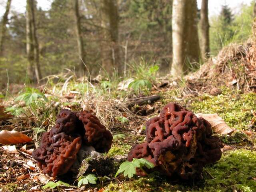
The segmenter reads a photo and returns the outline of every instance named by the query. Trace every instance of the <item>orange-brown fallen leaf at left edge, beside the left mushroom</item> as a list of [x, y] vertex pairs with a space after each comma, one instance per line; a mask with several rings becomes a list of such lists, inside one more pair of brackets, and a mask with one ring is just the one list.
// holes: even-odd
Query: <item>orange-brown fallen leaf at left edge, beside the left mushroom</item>
[[26, 136], [23, 133], [18, 131], [0, 131], [0, 143], [4, 145], [8, 144], [19, 144], [19, 143], [27, 143], [32, 141], [32, 139]]

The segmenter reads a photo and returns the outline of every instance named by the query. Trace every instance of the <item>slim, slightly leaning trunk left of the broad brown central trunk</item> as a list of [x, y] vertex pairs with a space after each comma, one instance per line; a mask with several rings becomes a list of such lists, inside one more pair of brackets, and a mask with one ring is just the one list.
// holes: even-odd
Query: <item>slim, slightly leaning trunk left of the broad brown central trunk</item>
[[78, 0], [74, 0], [74, 14], [75, 14], [75, 21], [76, 21], [76, 36], [77, 36], [77, 46], [78, 46], [78, 54], [80, 60], [80, 72], [81, 76], [85, 74], [86, 66], [85, 63], [85, 53], [84, 53], [84, 43], [82, 38], [81, 32], [81, 23], [80, 23], [80, 14], [79, 14], [79, 5]]

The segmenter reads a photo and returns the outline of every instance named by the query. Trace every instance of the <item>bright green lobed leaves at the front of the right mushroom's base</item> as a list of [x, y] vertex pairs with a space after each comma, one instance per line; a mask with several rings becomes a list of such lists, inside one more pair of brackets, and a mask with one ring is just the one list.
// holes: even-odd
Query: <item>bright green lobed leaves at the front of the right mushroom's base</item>
[[125, 177], [128, 176], [128, 178], [132, 178], [134, 174], [136, 174], [136, 168], [140, 168], [143, 172], [146, 173], [146, 171], [142, 168], [144, 166], [146, 166], [146, 168], [148, 169], [152, 169], [154, 167], [154, 164], [152, 164], [151, 162], [149, 162], [144, 158], [141, 158], [141, 159], [133, 158], [132, 162], [125, 161], [119, 166], [119, 169], [116, 172], [116, 176], [124, 172]]

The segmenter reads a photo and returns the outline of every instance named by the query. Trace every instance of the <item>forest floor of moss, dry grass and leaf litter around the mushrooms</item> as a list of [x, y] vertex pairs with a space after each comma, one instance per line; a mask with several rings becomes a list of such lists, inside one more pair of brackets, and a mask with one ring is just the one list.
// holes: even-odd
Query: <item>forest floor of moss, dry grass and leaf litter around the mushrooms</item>
[[[255, 45], [255, 44], [254, 44]], [[178, 103], [194, 113], [217, 113], [235, 132], [231, 136], [219, 135], [225, 146], [222, 158], [204, 168], [200, 180], [179, 182], [168, 177], [150, 175], [131, 179], [114, 179], [111, 182], [86, 185], [77, 188], [76, 178], [64, 175], [50, 178], [62, 180], [70, 186], [42, 191], [62, 192], [150, 192], [150, 191], [208, 191], [254, 192], [256, 191], [256, 49], [253, 44], [231, 45], [218, 57], [204, 64], [200, 70], [181, 79], [170, 76], [156, 78], [152, 88], [131, 90], [120, 82], [108, 79], [76, 79], [66, 73], [49, 77], [44, 86], [47, 100], [31, 102], [22, 100], [22, 93], [37, 93], [28, 88], [9, 86], [8, 97], [2, 98], [0, 113], [1, 130], [16, 130], [33, 139], [33, 142], [12, 145], [8, 150], [0, 147], [0, 192], [41, 191], [46, 178], [32, 159], [31, 150], [38, 146], [40, 136], [49, 130], [61, 108], [92, 110], [114, 135], [108, 156], [124, 156], [135, 143], [145, 138], [145, 123], [157, 116], [169, 102]], [[210, 66], [210, 67], [209, 67]], [[137, 74], [140, 76], [142, 74]], [[134, 76], [136, 78], [136, 76]], [[118, 85], [119, 84], [119, 85]], [[17, 88], [18, 87], [18, 88]], [[26, 88], [26, 90], [25, 90]], [[18, 89], [18, 90], [17, 90]], [[155, 102], [131, 105], [135, 98], [159, 95]], [[18, 99], [17, 99], [18, 98]], [[27, 103], [26, 103], [27, 102]], [[10, 113], [4, 113], [3, 108]], [[116, 171], [120, 164], [116, 164]]]

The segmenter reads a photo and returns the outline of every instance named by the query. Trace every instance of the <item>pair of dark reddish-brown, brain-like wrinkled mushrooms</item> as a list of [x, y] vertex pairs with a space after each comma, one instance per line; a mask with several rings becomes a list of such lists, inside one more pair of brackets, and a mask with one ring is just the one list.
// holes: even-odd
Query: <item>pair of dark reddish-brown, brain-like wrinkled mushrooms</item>
[[[97, 152], [108, 152], [112, 139], [111, 132], [90, 112], [64, 109], [32, 156], [44, 174], [58, 176], [70, 170], [80, 150], [92, 146]], [[158, 117], [146, 122], [146, 142], [132, 146], [128, 160], [145, 158], [155, 165], [148, 171], [188, 180], [200, 176], [206, 164], [219, 160], [222, 147], [207, 120], [169, 103]], [[144, 174], [137, 170], [137, 175]]]

